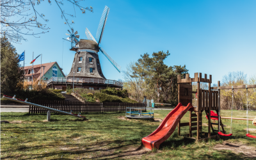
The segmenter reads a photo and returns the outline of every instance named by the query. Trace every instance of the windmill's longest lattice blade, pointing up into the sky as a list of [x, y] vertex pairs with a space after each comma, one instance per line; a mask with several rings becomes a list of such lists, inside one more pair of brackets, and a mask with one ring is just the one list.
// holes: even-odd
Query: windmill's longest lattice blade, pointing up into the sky
[[98, 30], [96, 33], [96, 40], [97, 40], [98, 44], [100, 44], [100, 42], [101, 42], [104, 28], [105, 28], [105, 25], [106, 25], [106, 22], [108, 19], [108, 13], [109, 13], [109, 8], [108, 8], [108, 6], [105, 6], [102, 16], [100, 18], [100, 24], [99, 24], [99, 27], [98, 27]]

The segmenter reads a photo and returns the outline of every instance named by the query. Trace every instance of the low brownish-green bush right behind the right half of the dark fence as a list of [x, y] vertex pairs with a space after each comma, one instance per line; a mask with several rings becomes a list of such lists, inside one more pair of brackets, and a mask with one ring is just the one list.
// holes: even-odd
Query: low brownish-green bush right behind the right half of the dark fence
[[116, 95], [107, 95], [106, 93], [95, 93], [95, 99], [100, 100], [100, 102], [127, 102], [127, 103], [137, 103], [135, 100], [131, 100], [128, 97], [122, 99]]

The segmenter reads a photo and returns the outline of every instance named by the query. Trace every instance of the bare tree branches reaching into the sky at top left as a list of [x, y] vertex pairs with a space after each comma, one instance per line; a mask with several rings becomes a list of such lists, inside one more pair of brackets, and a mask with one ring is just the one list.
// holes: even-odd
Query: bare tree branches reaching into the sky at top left
[[[82, 7], [79, 5], [79, 1], [66, 0], [71, 4], [70, 7], [79, 8], [82, 13], [86, 10], [93, 12], [92, 7]], [[83, 0], [80, 0], [83, 1]], [[1, 36], [8, 38], [10, 42], [20, 43], [22, 40], [26, 40], [24, 35], [33, 35], [39, 37], [42, 33], [49, 32], [50, 28], [46, 26], [46, 22], [49, 20], [45, 18], [44, 13], [39, 13], [36, 7], [40, 5], [42, 0], [1, 0]], [[63, 1], [54, 0], [60, 9], [61, 18], [65, 19], [64, 24], [70, 27], [73, 24], [67, 19], [66, 15], [74, 17], [70, 13], [66, 13], [62, 10], [61, 6], [64, 5]], [[51, 4], [50, 0], [47, 3]]]

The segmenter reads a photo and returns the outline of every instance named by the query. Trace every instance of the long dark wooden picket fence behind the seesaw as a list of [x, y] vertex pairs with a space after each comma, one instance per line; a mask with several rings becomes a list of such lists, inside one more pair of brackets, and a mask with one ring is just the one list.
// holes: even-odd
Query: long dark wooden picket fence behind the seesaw
[[[143, 103], [120, 103], [120, 102], [76, 102], [65, 100], [30, 100], [31, 103], [39, 104], [48, 108], [73, 113], [104, 113], [122, 112], [126, 108], [145, 108]], [[47, 109], [29, 106], [30, 113], [47, 113]], [[55, 112], [52, 112], [55, 113]]]

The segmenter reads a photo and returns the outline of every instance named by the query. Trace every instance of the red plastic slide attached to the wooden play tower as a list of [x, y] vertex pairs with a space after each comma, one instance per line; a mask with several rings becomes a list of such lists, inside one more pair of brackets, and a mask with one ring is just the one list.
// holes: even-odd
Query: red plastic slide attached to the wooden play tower
[[142, 138], [143, 145], [152, 150], [153, 148], [159, 148], [159, 145], [167, 140], [175, 130], [182, 116], [185, 115], [189, 109], [193, 109], [191, 103], [188, 106], [182, 106], [178, 104], [163, 120], [156, 131], [149, 134], [147, 137]]

